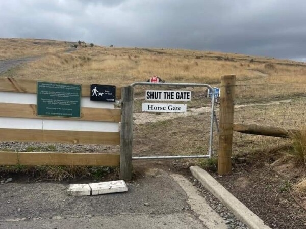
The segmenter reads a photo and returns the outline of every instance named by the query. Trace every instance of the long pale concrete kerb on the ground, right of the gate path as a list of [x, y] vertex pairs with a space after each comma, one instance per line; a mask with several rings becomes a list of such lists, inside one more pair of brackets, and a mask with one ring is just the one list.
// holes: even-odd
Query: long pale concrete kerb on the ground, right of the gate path
[[217, 182], [207, 171], [199, 166], [190, 167], [192, 175], [201, 184], [219, 199], [232, 213], [251, 229], [269, 229], [256, 214], [242, 204], [234, 195], [227, 191], [219, 182]]

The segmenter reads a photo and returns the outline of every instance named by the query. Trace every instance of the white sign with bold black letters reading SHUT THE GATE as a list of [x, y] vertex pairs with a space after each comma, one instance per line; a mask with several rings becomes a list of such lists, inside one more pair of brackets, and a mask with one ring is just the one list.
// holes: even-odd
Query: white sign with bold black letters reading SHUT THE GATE
[[145, 100], [151, 101], [190, 101], [191, 91], [146, 90]]

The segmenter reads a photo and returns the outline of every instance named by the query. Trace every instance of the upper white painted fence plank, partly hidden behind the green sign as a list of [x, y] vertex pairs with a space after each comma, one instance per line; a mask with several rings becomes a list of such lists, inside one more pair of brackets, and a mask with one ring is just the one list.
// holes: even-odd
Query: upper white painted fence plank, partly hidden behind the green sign
[[[0, 103], [37, 104], [37, 95], [20, 92], [0, 92]], [[81, 107], [113, 109], [113, 102], [91, 101], [90, 97], [81, 98]]]

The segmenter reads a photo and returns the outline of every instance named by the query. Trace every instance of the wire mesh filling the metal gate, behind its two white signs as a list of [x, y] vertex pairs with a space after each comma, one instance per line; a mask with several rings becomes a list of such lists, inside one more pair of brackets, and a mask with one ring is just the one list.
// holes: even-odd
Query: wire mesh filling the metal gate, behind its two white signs
[[[134, 87], [134, 156], [207, 155], [211, 99], [205, 87]], [[146, 90], [191, 91], [190, 101], [148, 101]], [[187, 112], [143, 112], [143, 103], [186, 104]], [[214, 124], [213, 149], [217, 150]]]

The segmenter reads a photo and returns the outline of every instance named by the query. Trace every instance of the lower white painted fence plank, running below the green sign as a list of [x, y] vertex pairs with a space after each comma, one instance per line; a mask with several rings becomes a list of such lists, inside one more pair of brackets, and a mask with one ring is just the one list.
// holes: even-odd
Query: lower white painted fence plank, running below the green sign
[[53, 120], [0, 117], [0, 128], [119, 132], [119, 123], [73, 120], [73, 118], [71, 120]]

